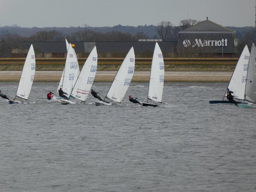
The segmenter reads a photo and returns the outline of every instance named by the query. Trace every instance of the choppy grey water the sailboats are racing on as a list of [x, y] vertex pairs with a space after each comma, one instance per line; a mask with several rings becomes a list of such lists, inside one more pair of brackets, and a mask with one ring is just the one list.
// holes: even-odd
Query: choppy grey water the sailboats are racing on
[[[0, 98], [1, 192], [256, 191], [256, 108], [209, 104], [227, 83], [164, 83], [156, 108], [128, 100], [148, 83], [111, 106], [50, 102], [57, 86], [35, 82], [26, 104]], [[0, 89], [14, 96], [17, 83]]]

